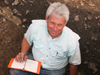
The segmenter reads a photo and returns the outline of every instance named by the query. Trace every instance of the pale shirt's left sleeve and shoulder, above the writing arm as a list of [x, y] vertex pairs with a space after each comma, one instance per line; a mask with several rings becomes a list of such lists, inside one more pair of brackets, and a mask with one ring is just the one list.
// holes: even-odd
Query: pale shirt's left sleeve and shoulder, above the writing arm
[[43, 25], [46, 25], [45, 20], [32, 20], [28, 30], [24, 34], [27, 42], [31, 45], [35, 41], [35, 37], [38, 35]]

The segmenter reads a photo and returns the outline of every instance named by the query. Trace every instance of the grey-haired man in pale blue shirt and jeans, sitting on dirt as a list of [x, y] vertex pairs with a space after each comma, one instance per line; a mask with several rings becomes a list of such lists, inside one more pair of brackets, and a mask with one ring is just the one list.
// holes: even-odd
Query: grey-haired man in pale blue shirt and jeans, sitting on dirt
[[[21, 52], [15, 57], [22, 62], [27, 59], [28, 49], [33, 43], [29, 59], [42, 63], [40, 75], [63, 75], [70, 63], [70, 75], [76, 75], [81, 63], [78, 40], [80, 37], [66, 27], [69, 10], [65, 4], [52, 3], [46, 12], [46, 20], [32, 20], [22, 41]], [[21, 57], [21, 59], [19, 58]], [[11, 75], [33, 75], [29, 72], [10, 70]]]

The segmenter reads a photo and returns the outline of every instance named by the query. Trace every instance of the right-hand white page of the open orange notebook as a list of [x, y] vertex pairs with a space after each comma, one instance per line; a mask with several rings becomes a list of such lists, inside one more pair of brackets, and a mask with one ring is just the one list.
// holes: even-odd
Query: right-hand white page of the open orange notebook
[[37, 61], [27, 59], [26, 64], [25, 64], [25, 70], [37, 72], [37, 68], [38, 68]]

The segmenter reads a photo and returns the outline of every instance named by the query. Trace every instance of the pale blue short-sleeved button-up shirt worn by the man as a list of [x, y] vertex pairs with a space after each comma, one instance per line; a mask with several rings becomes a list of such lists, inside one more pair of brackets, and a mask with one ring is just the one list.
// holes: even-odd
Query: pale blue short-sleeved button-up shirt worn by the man
[[24, 37], [30, 45], [33, 43], [33, 57], [45, 69], [61, 69], [68, 62], [73, 65], [81, 63], [78, 42], [80, 37], [66, 26], [59, 37], [52, 39], [45, 20], [32, 20]]

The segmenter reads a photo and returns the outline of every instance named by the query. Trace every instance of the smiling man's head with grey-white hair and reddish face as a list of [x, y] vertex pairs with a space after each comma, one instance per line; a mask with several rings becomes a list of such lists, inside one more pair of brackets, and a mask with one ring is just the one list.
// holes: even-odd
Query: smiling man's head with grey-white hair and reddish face
[[60, 36], [69, 20], [69, 10], [65, 4], [52, 3], [46, 12], [47, 29], [52, 38]]

